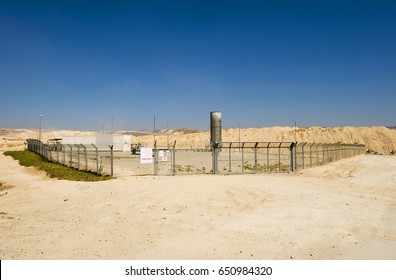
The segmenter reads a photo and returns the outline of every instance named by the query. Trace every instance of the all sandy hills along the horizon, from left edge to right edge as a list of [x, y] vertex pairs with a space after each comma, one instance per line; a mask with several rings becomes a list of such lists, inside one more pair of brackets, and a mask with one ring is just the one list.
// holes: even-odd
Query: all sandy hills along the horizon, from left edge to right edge
[[[94, 135], [94, 131], [70, 131], [56, 130], [42, 131], [43, 140], [51, 138], [62, 138], [71, 135]], [[145, 146], [152, 146], [154, 137], [150, 132], [140, 131], [118, 131], [116, 133], [132, 135], [133, 143], [142, 143]], [[298, 128], [296, 133], [294, 127], [266, 127], [266, 128], [243, 128], [240, 130], [240, 140], [242, 142], [276, 141], [289, 142], [297, 139], [298, 142], [311, 143], [361, 143], [366, 145], [368, 152], [378, 154], [396, 153], [396, 130], [383, 126], [375, 127], [309, 127]], [[28, 138], [38, 138], [37, 129], [10, 129], [0, 128], [0, 150], [15, 150], [25, 147], [25, 140]], [[239, 140], [239, 129], [227, 129], [222, 133], [223, 141]], [[158, 146], [167, 146], [168, 142], [173, 145], [176, 141], [177, 148], [203, 149], [209, 145], [210, 133], [200, 132], [194, 129], [169, 129], [156, 133]]]

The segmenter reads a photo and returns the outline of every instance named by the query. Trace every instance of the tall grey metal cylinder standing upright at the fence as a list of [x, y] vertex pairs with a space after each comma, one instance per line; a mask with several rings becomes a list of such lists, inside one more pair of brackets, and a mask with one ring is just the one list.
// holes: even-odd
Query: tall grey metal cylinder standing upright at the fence
[[221, 112], [210, 112], [210, 146], [212, 148], [212, 170], [213, 174], [217, 174], [221, 147]]

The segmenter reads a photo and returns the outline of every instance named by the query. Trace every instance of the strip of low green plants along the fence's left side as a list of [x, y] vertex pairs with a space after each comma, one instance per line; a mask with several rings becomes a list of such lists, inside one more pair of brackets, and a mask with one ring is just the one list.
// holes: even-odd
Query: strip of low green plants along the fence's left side
[[43, 170], [51, 178], [69, 181], [104, 181], [109, 180], [109, 176], [97, 175], [93, 172], [85, 172], [73, 169], [58, 163], [50, 162], [46, 158], [33, 153], [31, 151], [8, 151], [4, 155], [11, 156], [13, 159], [18, 160], [22, 166], [33, 166], [39, 170]]

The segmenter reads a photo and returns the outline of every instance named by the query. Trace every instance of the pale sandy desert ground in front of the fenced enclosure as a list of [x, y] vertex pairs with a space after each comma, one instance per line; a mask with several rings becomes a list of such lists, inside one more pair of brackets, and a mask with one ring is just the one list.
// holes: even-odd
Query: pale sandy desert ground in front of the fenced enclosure
[[84, 183], [1, 154], [0, 182], [0, 259], [396, 259], [395, 156]]

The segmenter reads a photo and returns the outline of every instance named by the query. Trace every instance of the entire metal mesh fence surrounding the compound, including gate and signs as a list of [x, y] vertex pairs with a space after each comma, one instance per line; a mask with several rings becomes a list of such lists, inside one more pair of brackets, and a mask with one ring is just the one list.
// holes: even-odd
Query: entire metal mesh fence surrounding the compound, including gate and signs
[[[44, 144], [28, 139], [28, 149], [50, 161], [110, 176], [180, 174], [255, 174], [294, 172], [365, 153], [360, 144], [223, 142], [215, 149], [154, 147], [153, 163], [140, 155], [93, 144]], [[217, 152], [217, 154], [215, 154]]]

